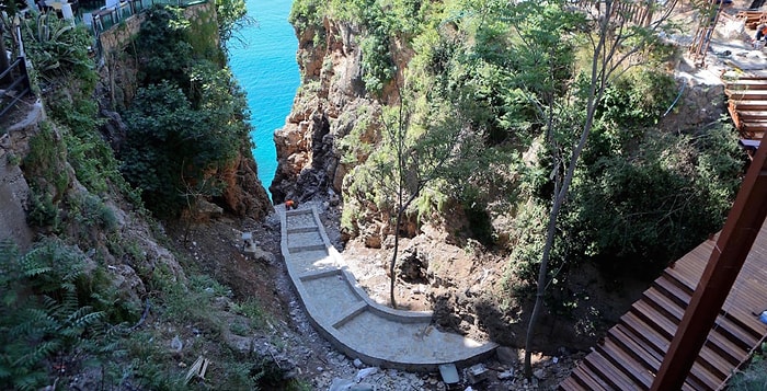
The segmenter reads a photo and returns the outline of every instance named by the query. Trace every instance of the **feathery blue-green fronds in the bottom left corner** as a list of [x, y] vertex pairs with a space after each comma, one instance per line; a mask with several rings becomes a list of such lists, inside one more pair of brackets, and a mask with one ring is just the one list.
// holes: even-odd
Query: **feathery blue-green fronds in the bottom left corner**
[[36, 390], [53, 383], [46, 361], [87, 348], [104, 313], [80, 300], [83, 257], [49, 240], [26, 254], [0, 243], [0, 387]]

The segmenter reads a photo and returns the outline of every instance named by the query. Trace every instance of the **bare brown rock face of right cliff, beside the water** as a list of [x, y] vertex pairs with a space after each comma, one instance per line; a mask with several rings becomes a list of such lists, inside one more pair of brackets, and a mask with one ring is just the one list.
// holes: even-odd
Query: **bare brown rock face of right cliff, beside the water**
[[341, 193], [351, 166], [341, 161], [337, 140], [355, 126], [359, 111], [380, 108], [365, 96], [358, 34], [355, 26], [328, 19], [320, 32], [298, 32], [302, 80], [285, 127], [274, 135], [278, 165], [270, 191], [275, 203]]

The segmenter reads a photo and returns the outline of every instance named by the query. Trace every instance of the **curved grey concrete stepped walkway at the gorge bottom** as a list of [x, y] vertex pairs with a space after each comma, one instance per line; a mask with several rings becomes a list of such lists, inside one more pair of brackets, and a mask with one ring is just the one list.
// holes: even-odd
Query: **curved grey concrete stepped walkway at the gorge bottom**
[[432, 371], [442, 364], [470, 365], [497, 346], [438, 331], [431, 312], [399, 311], [373, 301], [330, 244], [313, 206], [276, 209], [283, 256], [301, 304], [339, 350], [370, 366]]

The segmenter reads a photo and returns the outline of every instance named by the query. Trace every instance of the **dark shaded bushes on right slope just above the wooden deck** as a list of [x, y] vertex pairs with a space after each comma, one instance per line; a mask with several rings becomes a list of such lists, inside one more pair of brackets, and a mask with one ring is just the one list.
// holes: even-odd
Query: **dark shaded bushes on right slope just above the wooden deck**
[[607, 269], [652, 274], [721, 229], [741, 164], [723, 125], [695, 137], [653, 134], [636, 147], [626, 142], [579, 173], [562, 238]]

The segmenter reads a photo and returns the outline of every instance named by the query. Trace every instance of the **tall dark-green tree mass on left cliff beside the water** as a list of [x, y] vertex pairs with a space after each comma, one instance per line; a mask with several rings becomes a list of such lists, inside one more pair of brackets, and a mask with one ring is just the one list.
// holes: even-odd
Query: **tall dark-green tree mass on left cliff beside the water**
[[[219, 5], [237, 18], [238, 3]], [[213, 35], [176, 8], [153, 7], [138, 37], [144, 87], [123, 113], [128, 131], [121, 171], [160, 217], [176, 216], [197, 195], [219, 195], [225, 183], [216, 174], [238, 152], [250, 154], [244, 93], [215, 50], [203, 47]]]

